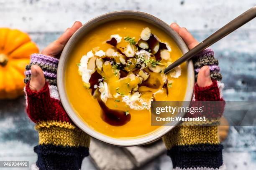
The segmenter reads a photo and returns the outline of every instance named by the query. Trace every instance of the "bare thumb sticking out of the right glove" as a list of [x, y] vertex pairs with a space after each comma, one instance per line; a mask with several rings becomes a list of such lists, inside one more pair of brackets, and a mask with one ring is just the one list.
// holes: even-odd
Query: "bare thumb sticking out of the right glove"
[[197, 85], [199, 87], [207, 87], [212, 85], [212, 79], [210, 77], [210, 68], [205, 65], [203, 66], [197, 76]]

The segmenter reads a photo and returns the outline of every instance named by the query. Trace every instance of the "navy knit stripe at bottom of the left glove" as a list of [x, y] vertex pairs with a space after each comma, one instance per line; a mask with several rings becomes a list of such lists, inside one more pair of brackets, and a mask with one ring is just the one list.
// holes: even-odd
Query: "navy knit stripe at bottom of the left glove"
[[88, 148], [56, 145], [37, 145], [37, 167], [40, 170], [79, 170], [82, 160], [89, 155]]

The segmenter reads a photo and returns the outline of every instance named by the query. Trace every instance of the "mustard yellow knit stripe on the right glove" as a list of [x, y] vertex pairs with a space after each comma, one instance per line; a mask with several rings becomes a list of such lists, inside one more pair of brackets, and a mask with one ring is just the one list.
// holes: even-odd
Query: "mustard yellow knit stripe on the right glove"
[[220, 143], [218, 126], [177, 126], [163, 140], [167, 149], [173, 146]]

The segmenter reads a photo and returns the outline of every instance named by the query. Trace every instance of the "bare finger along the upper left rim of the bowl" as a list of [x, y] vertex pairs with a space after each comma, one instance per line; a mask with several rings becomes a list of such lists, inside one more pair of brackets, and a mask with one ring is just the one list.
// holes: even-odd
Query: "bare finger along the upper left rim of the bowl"
[[82, 23], [76, 21], [71, 28], [68, 28], [59, 38], [58, 40], [52, 42], [48, 45], [41, 54], [56, 56], [63, 50], [69, 38], [76, 32], [80, 27], [82, 27]]

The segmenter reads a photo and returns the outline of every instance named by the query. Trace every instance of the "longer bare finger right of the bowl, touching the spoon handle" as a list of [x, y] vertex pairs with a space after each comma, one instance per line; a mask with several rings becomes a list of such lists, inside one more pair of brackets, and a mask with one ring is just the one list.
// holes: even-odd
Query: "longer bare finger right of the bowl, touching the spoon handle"
[[179, 35], [182, 37], [184, 42], [189, 47], [189, 50], [197, 46], [199, 42], [188, 32], [187, 28], [180, 28], [179, 29]]

